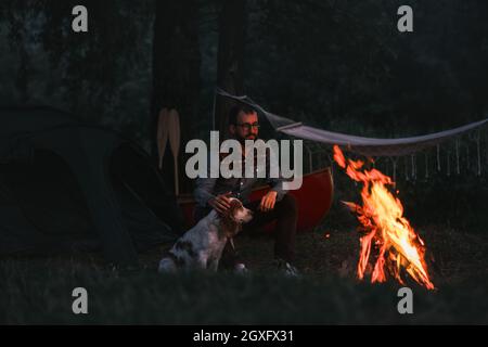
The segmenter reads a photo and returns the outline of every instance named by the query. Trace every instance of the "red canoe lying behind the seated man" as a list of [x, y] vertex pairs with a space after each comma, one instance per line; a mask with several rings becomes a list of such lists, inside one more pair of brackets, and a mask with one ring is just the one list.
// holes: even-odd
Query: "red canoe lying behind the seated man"
[[[268, 191], [268, 187], [260, 187], [249, 196], [252, 202], [260, 200]], [[298, 232], [310, 231], [317, 227], [331, 208], [334, 192], [331, 169], [325, 168], [304, 176], [301, 188], [290, 191], [295, 196], [298, 205]], [[187, 227], [193, 226], [193, 208], [195, 202], [190, 194], [180, 195], [178, 204], [183, 210]], [[270, 229], [269, 226], [267, 229]]]

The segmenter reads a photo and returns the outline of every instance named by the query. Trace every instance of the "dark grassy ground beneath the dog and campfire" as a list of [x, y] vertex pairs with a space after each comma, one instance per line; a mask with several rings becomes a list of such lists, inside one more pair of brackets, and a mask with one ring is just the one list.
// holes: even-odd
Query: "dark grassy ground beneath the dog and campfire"
[[[414, 283], [413, 314], [397, 311], [397, 290], [355, 275], [359, 249], [352, 229], [324, 227], [299, 234], [297, 266], [283, 278], [271, 267], [272, 240], [242, 235], [236, 243], [253, 270], [160, 275], [160, 249], [137, 269], [113, 269], [93, 257], [0, 261], [0, 322], [117, 324], [390, 324], [488, 323], [488, 237], [442, 226], [421, 232], [437, 291]], [[325, 237], [329, 234], [329, 237]], [[163, 247], [164, 248], [164, 247]], [[72, 291], [86, 287], [88, 314], [72, 312]]]

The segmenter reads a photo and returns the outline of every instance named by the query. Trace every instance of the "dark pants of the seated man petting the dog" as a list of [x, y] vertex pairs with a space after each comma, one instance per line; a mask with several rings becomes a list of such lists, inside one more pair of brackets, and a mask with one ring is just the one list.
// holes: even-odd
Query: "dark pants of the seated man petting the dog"
[[[277, 227], [273, 231], [274, 236], [274, 257], [282, 258], [288, 262], [293, 262], [295, 257], [295, 235], [296, 235], [296, 220], [297, 207], [293, 195], [285, 194], [283, 198], [274, 204], [274, 208], [270, 211], [259, 210], [260, 201], [246, 204], [245, 207], [254, 211], [254, 217], [251, 222], [243, 226], [242, 232], [255, 233], [261, 227], [275, 220]], [[195, 210], [195, 220], [205, 217], [210, 209]], [[239, 262], [239, 254], [232, 248], [228, 242], [223, 249], [222, 259], [220, 264], [222, 268], [233, 268]]]

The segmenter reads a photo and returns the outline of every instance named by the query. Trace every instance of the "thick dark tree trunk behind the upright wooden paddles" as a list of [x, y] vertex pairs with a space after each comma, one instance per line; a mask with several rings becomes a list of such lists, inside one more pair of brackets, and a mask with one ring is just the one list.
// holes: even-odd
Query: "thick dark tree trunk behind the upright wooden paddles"
[[[157, 118], [163, 107], [175, 108], [180, 115], [179, 151], [180, 193], [190, 192], [191, 182], [184, 175], [184, 146], [192, 138], [193, 119], [197, 116], [201, 54], [196, 0], [156, 1], [153, 38], [153, 94], [151, 103], [151, 143], [157, 160]], [[166, 146], [162, 175], [175, 191], [174, 156]]]

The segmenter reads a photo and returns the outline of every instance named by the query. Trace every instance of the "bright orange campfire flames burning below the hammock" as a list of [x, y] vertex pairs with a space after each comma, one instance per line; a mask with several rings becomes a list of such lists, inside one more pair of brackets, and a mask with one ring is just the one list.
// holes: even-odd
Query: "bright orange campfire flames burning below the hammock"
[[395, 182], [380, 170], [365, 169], [364, 162], [346, 159], [341, 149], [334, 146], [334, 160], [355, 181], [363, 184], [362, 205], [344, 202], [361, 223], [358, 277], [363, 279], [373, 252], [377, 252], [371, 283], [385, 282], [387, 275], [404, 284], [404, 270], [419, 284], [434, 290], [424, 261], [425, 245], [403, 217], [403, 206], [388, 189]]

